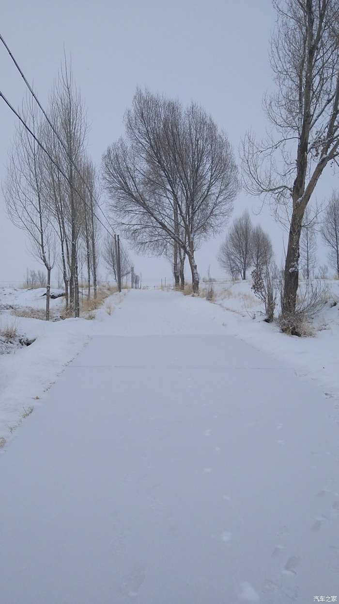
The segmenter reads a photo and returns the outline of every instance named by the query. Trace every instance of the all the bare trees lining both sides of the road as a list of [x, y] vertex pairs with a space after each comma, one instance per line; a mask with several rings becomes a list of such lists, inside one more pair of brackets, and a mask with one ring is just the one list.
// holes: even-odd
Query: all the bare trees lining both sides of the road
[[[337, 0], [272, 2], [276, 28], [270, 63], [276, 89], [264, 96], [270, 129], [263, 140], [246, 133], [241, 176], [226, 133], [204, 108], [138, 88], [124, 117], [125, 135], [102, 156], [101, 179], [114, 228], [137, 252], [168, 257], [177, 288], [184, 287], [187, 260], [194, 293], [199, 291], [196, 250], [228, 222], [240, 187], [268, 202], [275, 216], [288, 222], [281, 312], [286, 330], [293, 330], [300, 254], [308, 276], [314, 263], [310, 202], [324, 171], [338, 165], [339, 5]], [[25, 111], [53, 161], [19, 127], [5, 184], [8, 212], [30, 233], [49, 275], [57, 234], [67, 304], [78, 316], [80, 242], [89, 283], [91, 275], [96, 288], [99, 184], [86, 153], [84, 105], [66, 62], [49, 99], [55, 129], [37, 118], [30, 102]], [[322, 237], [338, 271], [336, 194], [325, 211]], [[114, 245], [105, 239], [104, 258], [116, 274]], [[259, 266], [263, 258], [269, 265], [272, 242], [245, 213], [234, 221], [220, 258], [231, 274], [238, 271], [245, 278], [250, 265]]]

